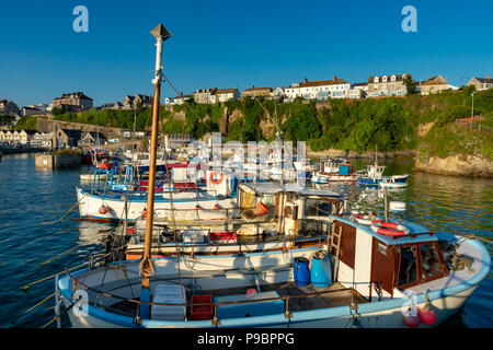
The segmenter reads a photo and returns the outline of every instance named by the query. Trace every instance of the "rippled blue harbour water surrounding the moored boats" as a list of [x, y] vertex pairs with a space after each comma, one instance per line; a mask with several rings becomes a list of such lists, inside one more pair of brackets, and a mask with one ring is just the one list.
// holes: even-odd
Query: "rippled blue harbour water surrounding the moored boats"
[[[355, 161], [356, 168], [369, 162]], [[410, 174], [404, 190], [390, 191], [390, 200], [408, 202], [405, 219], [421, 222], [436, 233], [450, 232], [493, 240], [493, 179], [462, 178], [412, 172], [406, 160], [382, 162], [386, 174]], [[76, 203], [74, 188], [84, 167], [41, 171], [34, 155], [3, 155], [0, 163], [0, 327], [42, 327], [54, 316], [54, 299], [28, 314], [15, 317], [54, 292], [54, 279], [20, 289], [65, 269], [67, 262], [89, 252], [100, 252], [101, 230], [108, 226], [80, 223], [78, 209], [61, 217]], [[331, 185], [331, 189], [356, 198], [357, 186]], [[364, 190], [367, 201], [375, 190]], [[381, 200], [378, 202], [380, 203]], [[82, 226], [81, 226], [82, 225]], [[77, 247], [66, 255], [47, 259]], [[493, 245], [488, 244], [490, 253]], [[14, 323], [12, 323], [14, 322]], [[64, 326], [69, 326], [64, 318]], [[446, 327], [493, 327], [493, 275], [490, 272], [465, 307]], [[56, 327], [53, 323], [50, 327]]]

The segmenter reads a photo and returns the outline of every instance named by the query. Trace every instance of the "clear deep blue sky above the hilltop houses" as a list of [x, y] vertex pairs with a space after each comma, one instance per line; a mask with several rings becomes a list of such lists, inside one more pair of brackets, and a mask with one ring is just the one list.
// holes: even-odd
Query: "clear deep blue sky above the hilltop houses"
[[[89, 10], [76, 33], [72, 10]], [[401, 10], [417, 10], [404, 33]], [[160, 22], [165, 74], [179, 91], [287, 86], [303, 78], [354, 83], [370, 73], [435, 74], [458, 85], [493, 77], [493, 1], [2, 1], [0, 98], [19, 106], [82, 91], [96, 106], [152, 94]], [[162, 96], [175, 93], [163, 84]]]

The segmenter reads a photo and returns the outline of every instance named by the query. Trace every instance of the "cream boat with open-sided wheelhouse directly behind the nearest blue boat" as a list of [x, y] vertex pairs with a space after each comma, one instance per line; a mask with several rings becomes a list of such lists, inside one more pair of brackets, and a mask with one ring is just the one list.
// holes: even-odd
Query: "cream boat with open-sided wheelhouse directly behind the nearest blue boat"
[[[242, 214], [228, 219], [197, 220], [194, 211], [187, 212], [186, 220], [156, 218], [152, 256], [172, 255], [176, 244], [182, 254], [195, 255], [289, 250], [301, 246], [319, 249], [328, 226], [319, 224], [318, 217], [342, 213], [344, 201], [331, 190], [243, 183], [239, 185], [237, 206]], [[181, 232], [176, 234], [172, 225]], [[129, 230], [127, 258], [131, 259], [141, 255], [146, 220], [136, 220]]]

